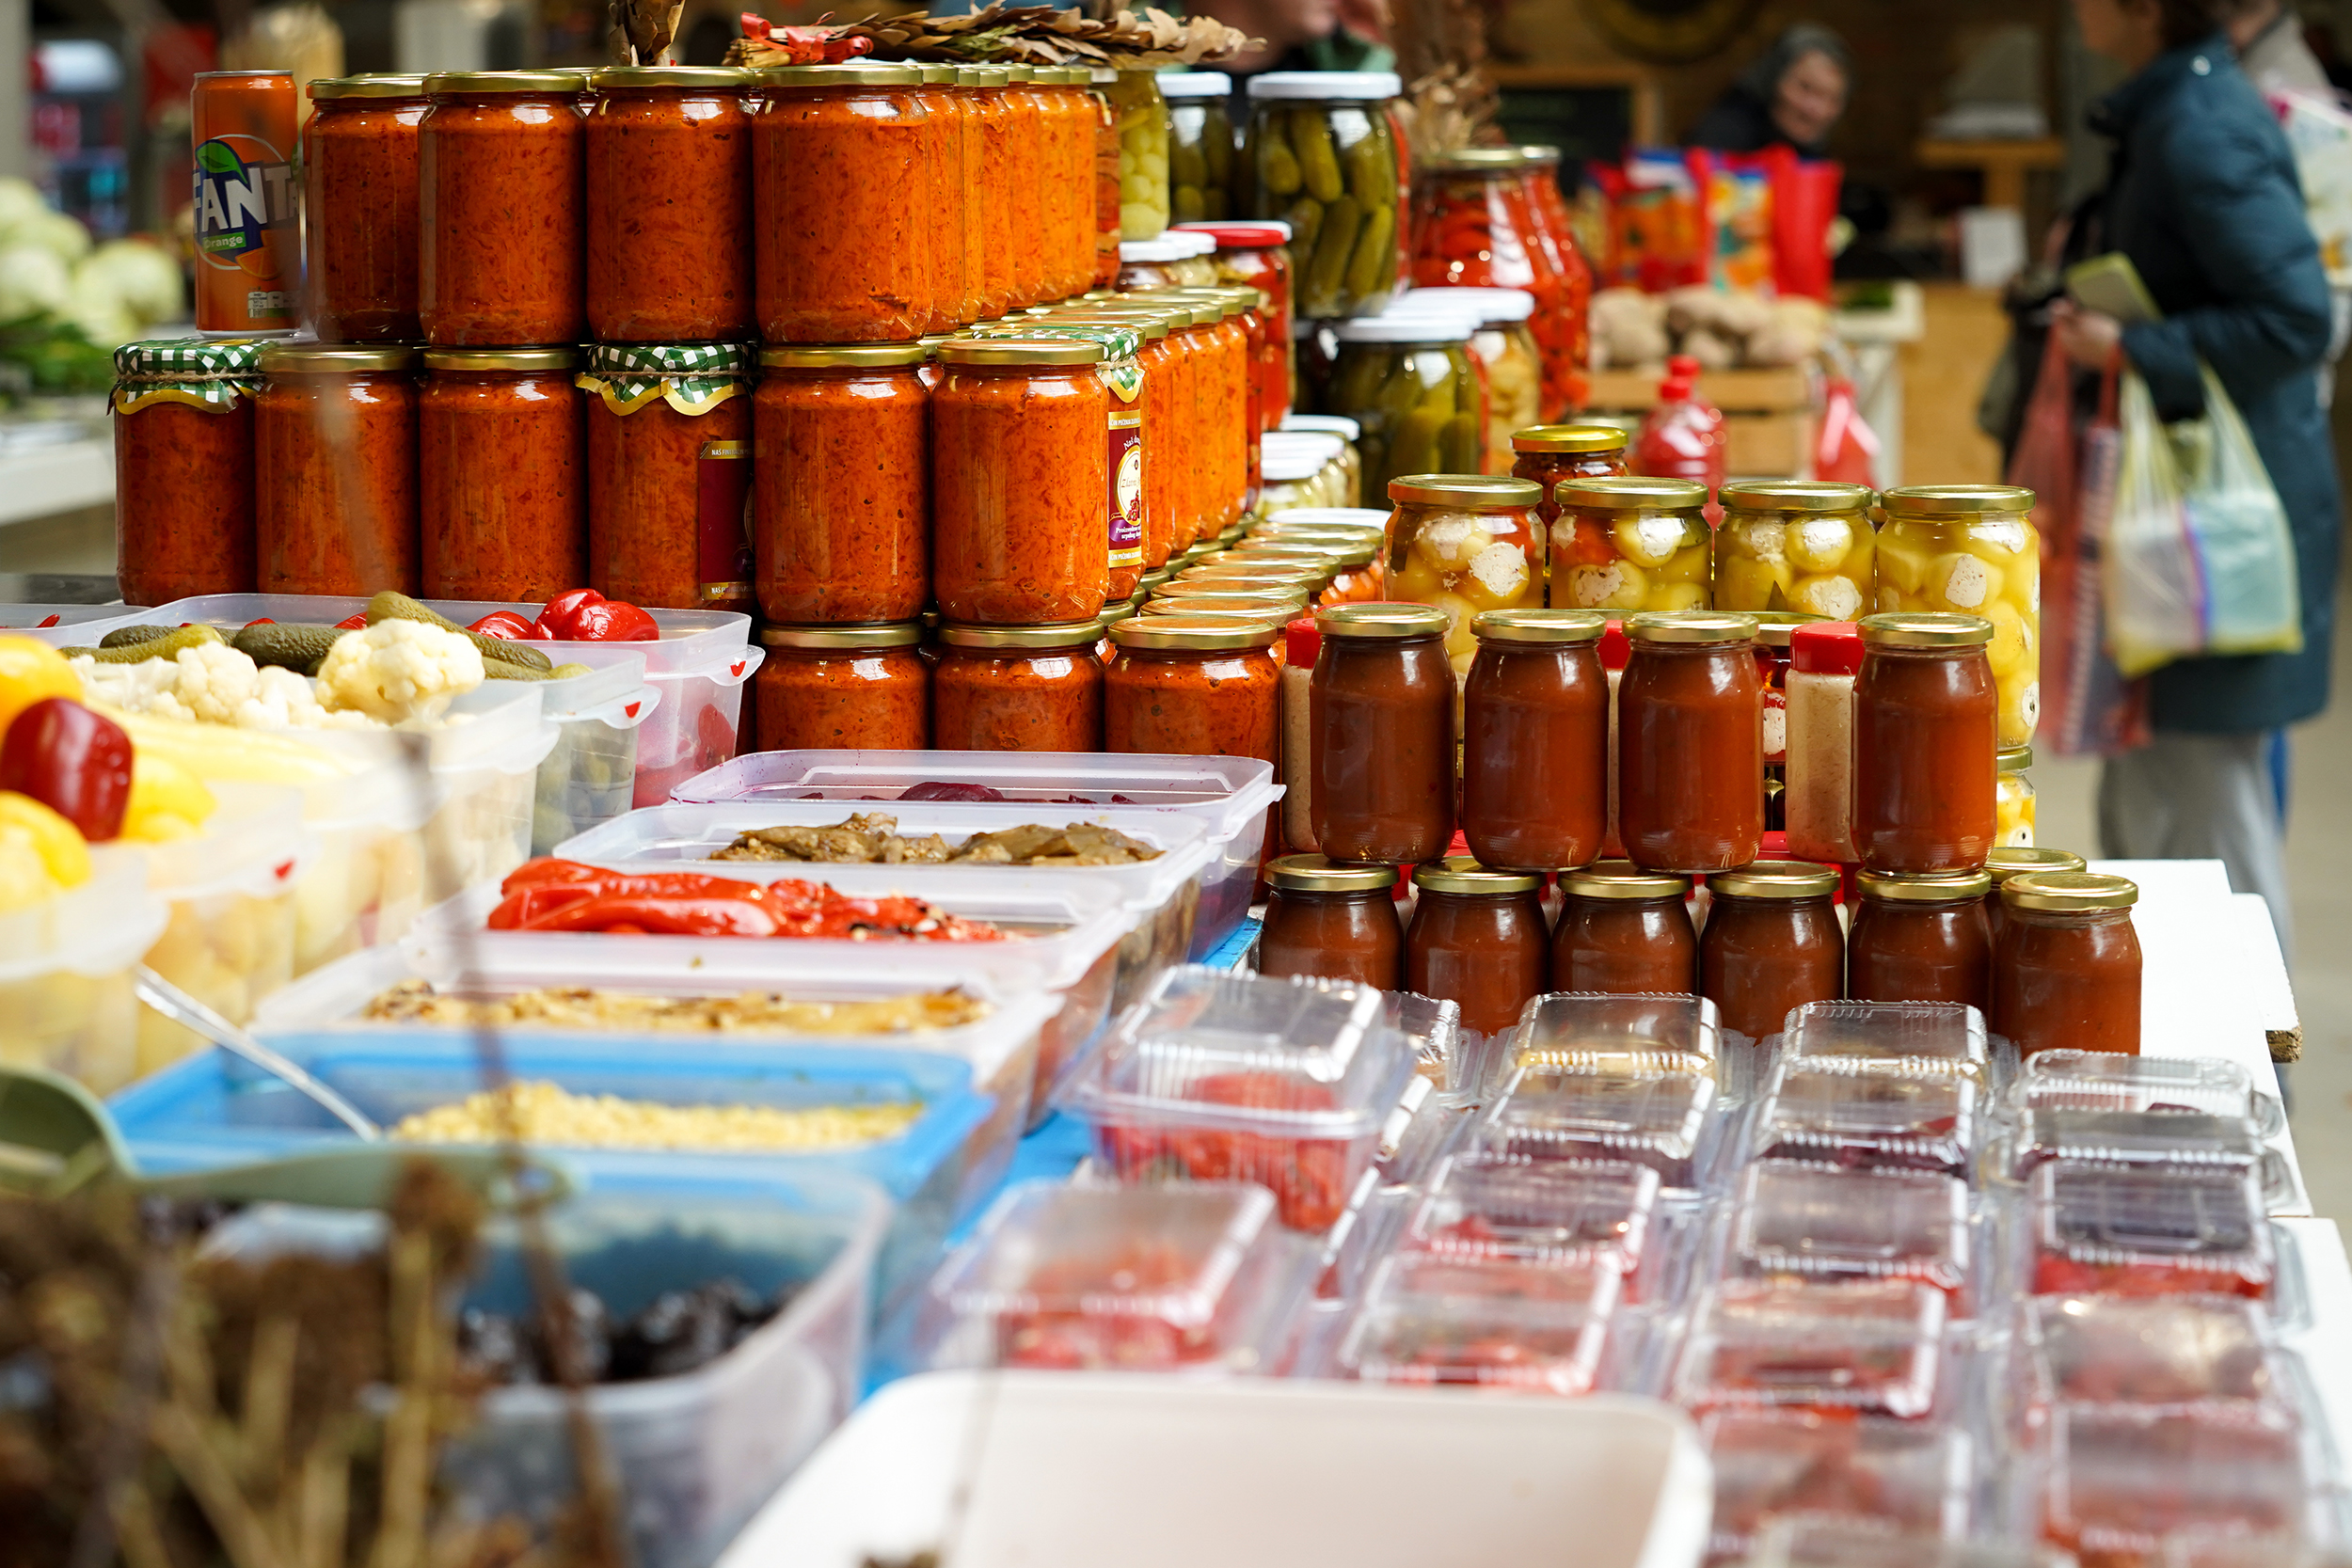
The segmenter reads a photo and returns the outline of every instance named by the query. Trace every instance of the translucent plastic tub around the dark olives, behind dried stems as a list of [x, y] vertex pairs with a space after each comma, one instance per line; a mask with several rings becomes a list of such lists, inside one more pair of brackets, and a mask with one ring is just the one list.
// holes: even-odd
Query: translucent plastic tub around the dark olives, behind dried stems
[[[604, 1173], [548, 1211], [564, 1279], [614, 1319], [666, 1291], [734, 1276], [783, 1312], [706, 1366], [590, 1387], [588, 1415], [623, 1490], [635, 1561], [699, 1568], [837, 1427], [858, 1399], [875, 1248], [889, 1201], [818, 1173]], [[381, 1246], [381, 1215], [259, 1206], [212, 1232], [216, 1255]], [[494, 1220], [466, 1307], [527, 1314], [513, 1220]], [[494, 1387], [442, 1465], [468, 1516], [546, 1526], [572, 1502], [564, 1392]]]

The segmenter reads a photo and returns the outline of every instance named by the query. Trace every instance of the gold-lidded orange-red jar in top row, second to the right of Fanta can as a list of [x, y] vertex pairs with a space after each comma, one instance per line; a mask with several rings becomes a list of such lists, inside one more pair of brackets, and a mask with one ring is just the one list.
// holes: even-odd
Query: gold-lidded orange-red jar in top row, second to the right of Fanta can
[[586, 303], [581, 80], [562, 71], [426, 78], [416, 129], [416, 317], [445, 348], [576, 343]]

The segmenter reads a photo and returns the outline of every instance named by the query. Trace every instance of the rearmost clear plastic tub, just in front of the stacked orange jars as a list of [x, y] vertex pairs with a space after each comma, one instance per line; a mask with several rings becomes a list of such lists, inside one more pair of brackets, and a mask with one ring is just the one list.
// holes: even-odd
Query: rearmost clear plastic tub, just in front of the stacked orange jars
[[[1007, 802], [1058, 806], [1152, 806], [1197, 816], [1223, 858], [1202, 884], [1192, 952], [1207, 957], [1249, 910], [1275, 802], [1275, 764], [1254, 757], [1152, 752], [753, 752], [677, 785], [677, 802], [898, 799], [927, 785], [976, 785]], [[936, 797], [934, 797], [936, 799]], [[950, 795], [948, 799], [969, 799]], [[1242, 879], [1247, 872], [1247, 882]], [[1216, 889], [1216, 903], [1207, 893]], [[1228, 907], [1228, 898], [1240, 903]]]

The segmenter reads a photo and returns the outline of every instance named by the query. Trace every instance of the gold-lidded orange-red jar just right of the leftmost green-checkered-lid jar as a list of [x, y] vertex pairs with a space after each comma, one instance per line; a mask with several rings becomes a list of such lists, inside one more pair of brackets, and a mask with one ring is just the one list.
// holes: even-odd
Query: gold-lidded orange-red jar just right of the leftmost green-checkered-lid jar
[[254, 397], [261, 592], [416, 592], [414, 371], [414, 348], [261, 350], [263, 383]]

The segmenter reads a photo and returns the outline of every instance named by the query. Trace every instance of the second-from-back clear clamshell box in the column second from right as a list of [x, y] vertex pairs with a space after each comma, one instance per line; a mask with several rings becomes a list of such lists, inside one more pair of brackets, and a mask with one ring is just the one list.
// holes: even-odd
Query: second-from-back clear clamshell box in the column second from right
[[1788, 1058], [1757, 1107], [1757, 1159], [1969, 1175], [1978, 1140], [1973, 1079], [1893, 1077], [1851, 1058]]

